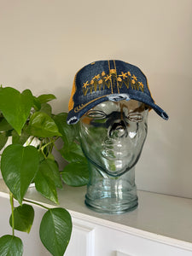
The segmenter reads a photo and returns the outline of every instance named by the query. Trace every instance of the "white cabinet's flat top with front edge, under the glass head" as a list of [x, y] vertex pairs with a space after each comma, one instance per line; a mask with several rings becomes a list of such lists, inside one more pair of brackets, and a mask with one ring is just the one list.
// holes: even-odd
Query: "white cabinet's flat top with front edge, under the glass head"
[[[65, 185], [58, 191], [60, 207], [67, 208], [75, 219], [192, 252], [192, 200], [138, 191], [139, 206], [136, 210], [109, 215], [85, 207], [85, 192], [84, 187], [72, 188]], [[0, 196], [7, 196], [3, 180], [0, 181]], [[54, 203], [44, 199], [34, 188], [28, 189], [26, 199], [55, 207]]]

